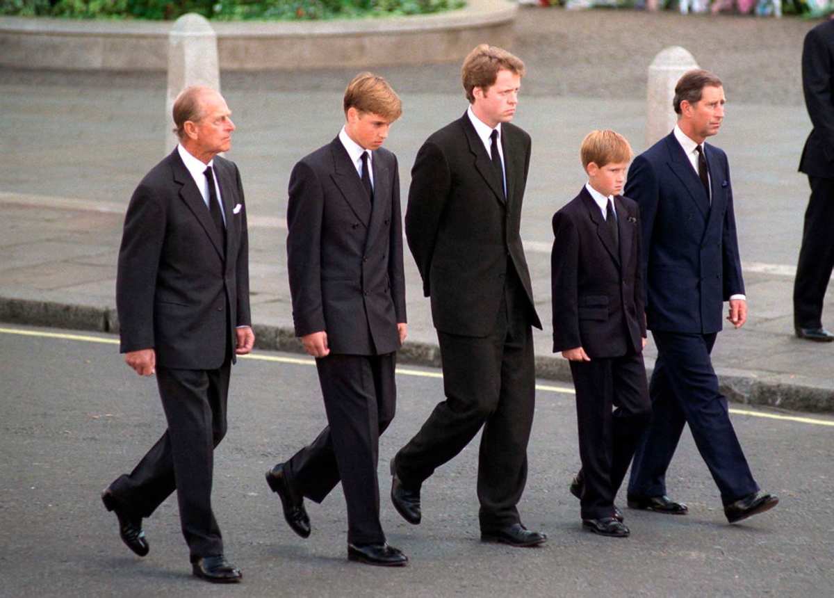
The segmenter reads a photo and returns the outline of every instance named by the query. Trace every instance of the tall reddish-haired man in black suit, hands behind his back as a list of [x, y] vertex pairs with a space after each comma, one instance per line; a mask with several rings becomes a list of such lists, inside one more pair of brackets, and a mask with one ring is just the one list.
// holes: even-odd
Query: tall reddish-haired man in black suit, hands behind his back
[[539, 545], [516, 505], [527, 477], [535, 313], [519, 235], [530, 136], [510, 124], [524, 63], [480, 45], [462, 74], [470, 107], [426, 140], [411, 171], [405, 234], [440, 340], [446, 400], [391, 462], [391, 499], [420, 522], [420, 487], [481, 428], [481, 538]]

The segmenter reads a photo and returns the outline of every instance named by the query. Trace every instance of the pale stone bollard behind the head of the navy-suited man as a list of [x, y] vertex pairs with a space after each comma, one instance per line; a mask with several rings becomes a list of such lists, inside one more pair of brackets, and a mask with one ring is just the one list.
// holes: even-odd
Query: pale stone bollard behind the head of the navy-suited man
[[681, 46], [664, 48], [649, 67], [646, 93], [646, 147], [675, 128], [677, 114], [672, 108], [675, 84], [683, 73], [698, 68], [695, 58]]

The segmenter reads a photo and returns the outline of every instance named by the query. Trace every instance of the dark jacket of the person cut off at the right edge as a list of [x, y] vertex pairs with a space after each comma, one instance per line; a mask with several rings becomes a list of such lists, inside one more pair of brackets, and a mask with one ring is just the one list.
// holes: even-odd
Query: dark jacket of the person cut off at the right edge
[[834, 21], [820, 23], [805, 36], [802, 91], [814, 128], [802, 149], [799, 171], [834, 178]]

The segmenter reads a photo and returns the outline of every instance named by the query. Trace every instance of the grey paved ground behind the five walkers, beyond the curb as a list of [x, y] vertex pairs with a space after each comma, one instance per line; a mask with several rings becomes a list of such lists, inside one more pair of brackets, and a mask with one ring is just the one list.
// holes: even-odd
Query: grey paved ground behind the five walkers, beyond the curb
[[[656, 34], [640, 38], [650, 23]], [[722, 384], [732, 400], [834, 411], [834, 344], [792, 336], [792, 272], [808, 193], [796, 163], [810, 130], [797, 95], [798, 61], [811, 25], [791, 19], [522, 11], [514, 49], [530, 57], [525, 78], [530, 96], [522, 98], [516, 120], [534, 143], [522, 237], [545, 322], [535, 336], [541, 376], [570, 379], [565, 361], [550, 353], [550, 216], [583, 183], [580, 140], [591, 128], [611, 127], [630, 138], [636, 151], [645, 148], [640, 89], [646, 68], [656, 49], [678, 39], [725, 78], [730, 98], [726, 124], [715, 140], [731, 160], [751, 319], [741, 331], [726, 329], [719, 336], [714, 364]], [[570, 62], [581, 58], [583, 51], [575, 46], [582, 33], [602, 26], [616, 30], [624, 44], [620, 56], [627, 54], [630, 62], [623, 72], [611, 56], [600, 58], [600, 68], [591, 68], [587, 57], [584, 63]], [[733, 41], [716, 54], [710, 48], [722, 35]], [[546, 46], [545, 39], [552, 44]], [[699, 40], [703, 48], [692, 45]], [[780, 58], [762, 58], [768, 56]], [[459, 116], [465, 102], [457, 65], [380, 71], [404, 99], [404, 118], [386, 145], [399, 156], [405, 207], [417, 148], [432, 130]], [[292, 164], [338, 131], [341, 93], [352, 74], [223, 78], [239, 127], [229, 157], [239, 164], [247, 193], [253, 315], [264, 348], [299, 349], [285, 268], [286, 184]], [[621, 89], [614, 87], [620, 76]], [[441, 77], [442, 83], [432, 85]], [[622, 93], [611, 97], [603, 93], [605, 86]], [[163, 105], [163, 74], [0, 70], [0, 321], [117, 329], [113, 294], [123, 213], [139, 178], [163, 155]], [[401, 359], [436, 364], [428, 300], [408, 254], [405, 263], [409, 342]], [[831, 322], [832, 314], [830, 298], [824, 320]], [[650, 345], [650, 368], [654, 354]]]

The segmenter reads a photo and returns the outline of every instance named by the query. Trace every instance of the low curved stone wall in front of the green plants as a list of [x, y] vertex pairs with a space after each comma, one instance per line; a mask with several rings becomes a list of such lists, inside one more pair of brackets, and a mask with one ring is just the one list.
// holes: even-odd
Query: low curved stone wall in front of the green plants
[[[369, 68], [456, 61], [478, 43], [509, 47], [518, 5], [468, 0], [445, 13], [323, 22], [211, 23], [222, 70]], [[163, 71], [173, 23], [0, 18], [0, 64]]]

